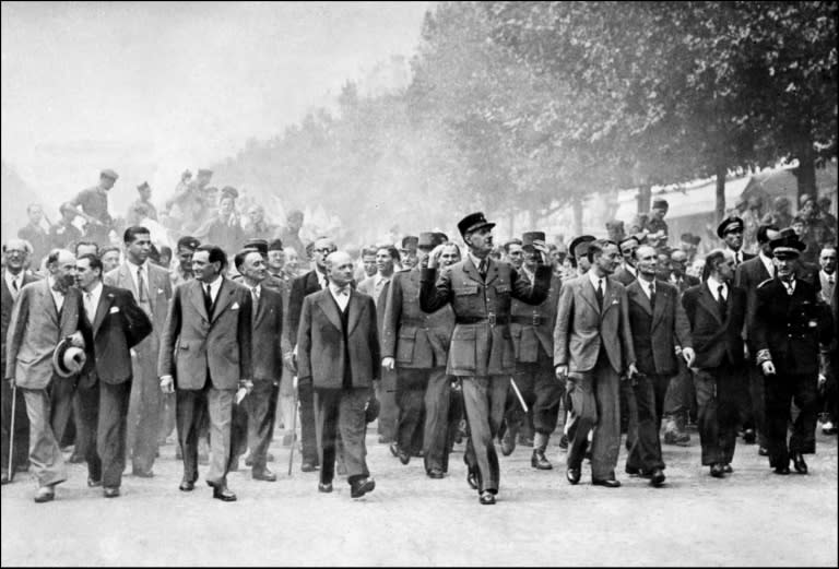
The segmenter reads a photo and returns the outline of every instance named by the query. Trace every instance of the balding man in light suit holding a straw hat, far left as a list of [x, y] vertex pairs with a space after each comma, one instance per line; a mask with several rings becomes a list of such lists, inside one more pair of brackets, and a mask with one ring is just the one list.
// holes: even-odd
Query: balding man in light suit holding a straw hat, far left
[[75, 383], [75, 378], [59, 378], [52, 369], [52, 353], [58, 343], [73, 336], [73, 344], [84, 346], [80, 331], [81, 293], [71, 287], [75, 277], [75, 257], [56, 249], [47, 257], [49, 275], [21, 289], [14, 303], [7, 340], [5, 378], [23, 392], [29, 417], [29, 464], [38, 481], [36, 502], [56, 497], [55, 486], [67, 479], [67, 466], [52, 427], [55, 407], [67, 411], [72, 405], [74, 387], [50, 395], [51, 384]]

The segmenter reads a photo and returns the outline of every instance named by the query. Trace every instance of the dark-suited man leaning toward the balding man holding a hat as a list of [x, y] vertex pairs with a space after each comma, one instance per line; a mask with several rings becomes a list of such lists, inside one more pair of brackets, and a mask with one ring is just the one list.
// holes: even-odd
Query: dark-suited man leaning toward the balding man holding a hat
[[[79, 379], [79, 398], [96, 443], [87, 443], [88, 483], [104, 486], [106, 498], [119, 496], [126, 467], [126, 424], [133, 377], [131, 348], [152, 332], [152, 322], [130, 291], [102, 284], [102, 261], [84, 254], [75, 261], [82, 291], [87, 358]], [[156, 434], [155, 434], [156, 435]]]

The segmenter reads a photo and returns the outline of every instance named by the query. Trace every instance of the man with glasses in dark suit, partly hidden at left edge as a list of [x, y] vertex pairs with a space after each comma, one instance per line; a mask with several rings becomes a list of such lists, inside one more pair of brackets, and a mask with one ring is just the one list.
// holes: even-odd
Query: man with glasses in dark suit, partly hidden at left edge
[[[29, 248], [22, 239], [10, 239], [3, 245], [5, 266], [2, 271], [0, 283], [0, 301], [2, 301], [2, 330], [0, 331], [0, 353], [2, 361], [0, 369], [5, 370], [5, 335], [9, 332], [9, 321], [12, 319], [12, 307], [21, 289], [39, 278], [24, 270], [29, 258]], [[26, 467], [29, 453], [29, 419], [26, 417], [26, 402], [23, 391], [12, 390], [8, 381], [2, 381], [2, 441], [0, 441], [0, 464], [2, 464], [2, 484], [11, 482], [9, 477], [9, 443], [13, 439], [12, 477], [17, 469]], [[14, 432], [12, 428], [12, 396], [14, 396]]]

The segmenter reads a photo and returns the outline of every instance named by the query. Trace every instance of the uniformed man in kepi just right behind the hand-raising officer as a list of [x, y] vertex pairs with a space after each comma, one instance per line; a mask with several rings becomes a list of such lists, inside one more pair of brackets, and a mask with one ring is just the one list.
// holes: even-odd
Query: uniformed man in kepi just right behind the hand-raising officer
[[[539, 251], [536, 245], [544, 245], [543, 232], [529, 232], [521, 237], [521, 248], [524, 253], [524, 262], [521, 268], [522, 277], [533, 283], [539, 268]], [[565, 386], [554, 376], [554, 324], [556, 322], [556, 304], [559, 299], [559, 277], [552, 275], [551, 288], [547, 298], [537, 306], [530, 306], [521, 300], [513, 299], [510, 306], [510, 332], [516, 346], [516, 375], [515, 381], [532, 416], [533, 454], [531, 466], [539, 470], [553, 469], [545, 457], [551, 434], [556, 428], [559, 417], [559, 403], [565, 393]], [[518, 395], [507, 398], [507, 411], [505, 413], [508, 431], [513, 436], [505, 437], [501, 443], [501, 452], [505, 452], [504, 443], [511, 441], [515, 444], [515, 432], [524, 416]]]

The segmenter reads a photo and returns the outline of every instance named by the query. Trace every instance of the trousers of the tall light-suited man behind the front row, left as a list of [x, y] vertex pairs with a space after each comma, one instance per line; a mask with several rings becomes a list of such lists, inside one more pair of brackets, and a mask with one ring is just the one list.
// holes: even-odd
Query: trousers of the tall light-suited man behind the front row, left
[[131, 358], [133, 381], [128, 407], [128, 448], [134, 473], [150, 474], [157, 455], [164, 396], [155, 372], [157, 354], [146, 339], [134, 347]]

